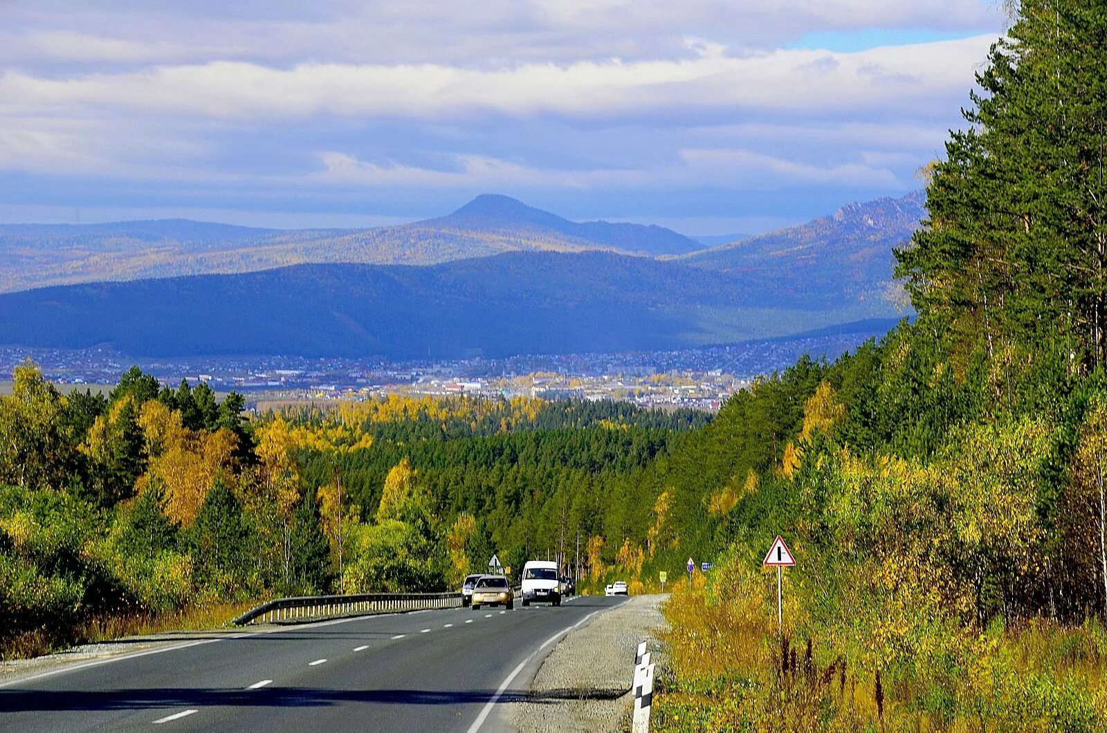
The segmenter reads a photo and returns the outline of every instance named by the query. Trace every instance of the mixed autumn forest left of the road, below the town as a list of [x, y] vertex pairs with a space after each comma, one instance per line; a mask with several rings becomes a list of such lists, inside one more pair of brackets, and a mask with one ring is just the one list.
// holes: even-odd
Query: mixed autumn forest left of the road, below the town
[[[444, 590], [599, 533], [608, 491], [707, 421], [612, 403], [404, 400], [245, 420], [132, 369], [0, 396], [0, 655], [223, 623], [275, 596]], [[586, 534], [587, 540], [590, 535]]]

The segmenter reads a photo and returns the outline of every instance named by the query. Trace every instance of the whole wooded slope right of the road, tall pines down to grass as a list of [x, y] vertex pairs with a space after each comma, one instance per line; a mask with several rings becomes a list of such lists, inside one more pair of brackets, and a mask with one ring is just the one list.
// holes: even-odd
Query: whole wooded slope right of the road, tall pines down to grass
[[918, 320], [643, 474], [643, 572], [716, 560], [666, 609], [659, 730], [1107, 730], [1107, 16], [1016, 12], [897, 252]]

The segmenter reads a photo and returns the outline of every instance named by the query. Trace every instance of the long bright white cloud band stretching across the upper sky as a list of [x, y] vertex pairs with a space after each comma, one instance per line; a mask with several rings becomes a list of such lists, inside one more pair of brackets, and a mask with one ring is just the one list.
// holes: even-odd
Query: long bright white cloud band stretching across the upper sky
[[[778, 50], [625, 63], [523, 64], [492, 71], [438, 64], [245, 62], [168, 65], [64, 79], [8, 71], [0, 111], [95, 109], [226, 118], [315, 115], [420, 117], [499, 114], [610, 116], [728, 109], [815, 116], [964, 92], [992, 37], [859, 53]], [[834, 63], [829, 63], [832, 61]], [[811, 73], [810, 65], [820, 73]]]

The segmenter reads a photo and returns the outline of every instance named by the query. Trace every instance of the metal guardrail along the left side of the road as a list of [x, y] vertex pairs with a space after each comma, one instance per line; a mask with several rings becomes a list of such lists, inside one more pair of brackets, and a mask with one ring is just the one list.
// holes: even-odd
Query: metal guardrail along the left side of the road
[[396, 613], [434, 608], [457, 608], [461, 593], [359, 593], [352, 596], [301, 596], [275, 598], [231, 621], [236, 626], [265, 621], [293, 621], [349, 613]]

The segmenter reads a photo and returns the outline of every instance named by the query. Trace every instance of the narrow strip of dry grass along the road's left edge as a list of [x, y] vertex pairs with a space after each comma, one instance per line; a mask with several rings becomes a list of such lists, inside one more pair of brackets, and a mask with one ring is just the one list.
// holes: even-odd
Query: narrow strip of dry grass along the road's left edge
[[216, 602], [163, 613], [97, 616], [62, 636], [55, 630], [37, 629], [7, 639], [0, 646], [0, 660], [41, 657], [79, 644], [112, 641], [124, 637], [225, 628], [234, 618], [255, 606], [256, 601]]

